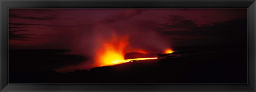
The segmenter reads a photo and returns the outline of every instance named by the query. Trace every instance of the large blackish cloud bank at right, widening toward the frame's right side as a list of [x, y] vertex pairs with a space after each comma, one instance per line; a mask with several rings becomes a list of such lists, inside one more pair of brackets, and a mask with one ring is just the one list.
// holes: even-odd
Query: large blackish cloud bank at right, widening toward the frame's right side
[[226, 22], [204, 24], [189, 30], [177, 29], [168, 31], [168, 29], [169, 27], [167, 29], [162, 27], [160, 30], [163, 34], [169, 35], [174, 42], [180, 44], [247, 44], [247, 17]]

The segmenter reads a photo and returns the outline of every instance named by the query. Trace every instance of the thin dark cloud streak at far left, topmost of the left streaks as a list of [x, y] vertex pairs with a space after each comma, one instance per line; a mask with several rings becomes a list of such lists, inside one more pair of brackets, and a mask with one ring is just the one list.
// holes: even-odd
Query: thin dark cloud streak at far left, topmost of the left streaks
[[57, 19], [56, 16], [44, 16], [44, 17], [33, 17], [33, 16], [20, 16], [17, 14], [9, 14], [9, 18], [20, 18], [20, 19], [29, 19], [29, 20], [53, 20]]

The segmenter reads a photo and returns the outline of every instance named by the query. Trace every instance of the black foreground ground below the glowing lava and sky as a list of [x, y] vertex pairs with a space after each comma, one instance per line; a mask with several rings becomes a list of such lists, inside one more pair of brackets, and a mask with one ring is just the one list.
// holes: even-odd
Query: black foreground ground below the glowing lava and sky
[[9, 84], [240, 84], [247, 83], [247, 46], [180, 47], [172, 56], [90, 70], [58, 73], [56, 68], [86, 58], [66, 50], [9, 50]]

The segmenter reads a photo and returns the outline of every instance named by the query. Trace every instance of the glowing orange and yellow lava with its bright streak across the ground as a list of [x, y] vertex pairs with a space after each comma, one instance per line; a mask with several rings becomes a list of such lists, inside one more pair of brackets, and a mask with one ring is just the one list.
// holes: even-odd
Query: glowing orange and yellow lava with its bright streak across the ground
[[[128, 36], [122, 36], [122, 38], [118, 38], [117, 35], [113, 34], [113, 38], [111, 40], [103, 39], [100, 42], [102, 46], [97, 49], [95, 61], [97, 62], [97, 66], [110, 66], [117, 65], [120, 63], [125, 63], [133, 60], [151, 60], [157, 59], [154, 58], [134, 58], [134, 59], [124, 59], [124, 50], [127, 47], [129, 41]], [[136, 52], [146, 53], [145, 51], [139, 49]], [[171, 49], [166, 49], [165, 53], [174, 52]]]

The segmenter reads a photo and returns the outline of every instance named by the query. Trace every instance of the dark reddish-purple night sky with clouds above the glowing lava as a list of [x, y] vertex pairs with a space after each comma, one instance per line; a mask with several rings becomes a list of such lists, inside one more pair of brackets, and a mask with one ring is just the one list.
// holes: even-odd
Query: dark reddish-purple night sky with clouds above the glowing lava
[[102, 40], [125, 52], [247, 45], [247, 8], [10, 8], [9, 49], [68, 49], [91, 57]]

